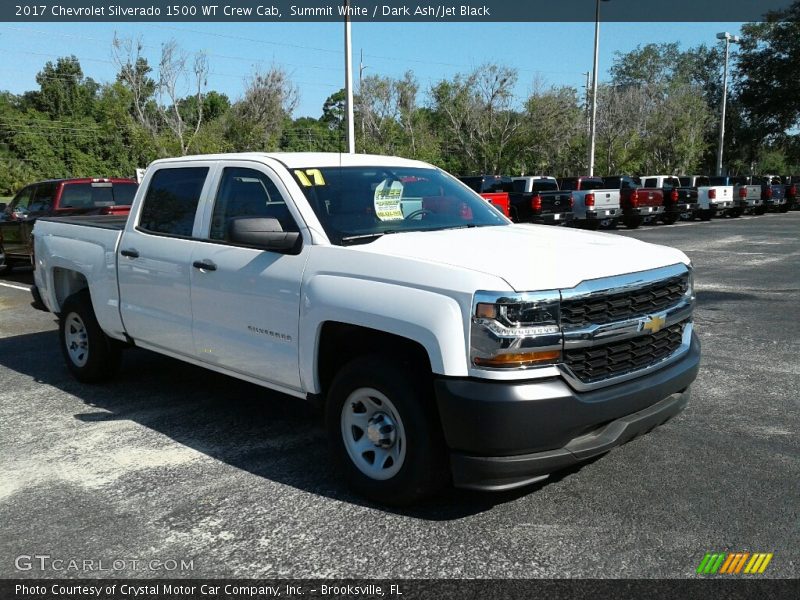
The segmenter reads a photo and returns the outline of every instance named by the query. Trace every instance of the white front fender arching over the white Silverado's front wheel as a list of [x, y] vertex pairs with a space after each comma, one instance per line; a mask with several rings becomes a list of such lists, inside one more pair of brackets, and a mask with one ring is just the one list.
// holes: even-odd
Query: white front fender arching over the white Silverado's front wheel
[[319, 343], [326, 322], [368, 327], [407, 338], [428, 354], [434, 373], [468, 375], [461, 307], [442, 294], [367, 279], [318, 275], [304, 286], [300, 345], [313, 360], [300, 360], [306, 390], [320, 393]]

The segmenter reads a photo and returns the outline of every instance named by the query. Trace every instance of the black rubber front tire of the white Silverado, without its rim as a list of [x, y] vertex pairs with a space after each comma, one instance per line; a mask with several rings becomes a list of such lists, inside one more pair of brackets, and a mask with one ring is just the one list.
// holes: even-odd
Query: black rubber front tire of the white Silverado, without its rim
[[[382, 394], [393, 405], [387, 407], [381, 402], [390, 418], [396, 420], [399, 417], [399, 425], [390, 428], [398, 436], [394, 444], [400, 440], [406, 442], [404, 457], [398, 461], [399, 470], [385, 479], [376, 479], [362, 471], [348, 451], [347, 444], [352, 448], [368, 435], [366, 429], [359, 434], [359, 427], [351, 425], [348, 433], [353, 437], [345, 441], [345, 431], [348, 430], [345, 404], [352, 398], [349, 406], [354, 414], [361, 412], [361, 407], [369, 411], [358, 400], [359, 395], [368, 389]], [[367, 396], [380, 401], [369, 393]], [[372, 418], [377, 414], [373, 413]], [[368, 422], [374, 427], [372, 418]], [[325, 421], [333, 457], [347, 483], [358, 494], [381, 504], [405, 506], [430, 497], [450, 484], [446, 446], [430, 375], [422, 372], [422, 367], [413, 361], [379, 355], [356, 358], [345, 365], [331, 384], [325, 404]], [[379, 433], [376, 430], [372, 433], [380, 435], [383, 431], [381, 427]], [[395, 450], [394, 444], [389, 452]], [[356, 452], [354, 449], [351, 451]], [[361, 452], [361, 464], [374, 469], [380, 455], [371, 448], [358, 452]], [[370, 452], [372, 467], [368, 464]], [[394, 467], [392, 461], [390, 469]]]

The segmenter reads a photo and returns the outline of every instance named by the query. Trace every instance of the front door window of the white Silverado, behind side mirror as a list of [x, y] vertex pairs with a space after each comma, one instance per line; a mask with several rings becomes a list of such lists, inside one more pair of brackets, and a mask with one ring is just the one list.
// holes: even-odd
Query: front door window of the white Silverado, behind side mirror
[[209, 238], [228, 240], [236, 217], [277, 219], [284, 231], [300, 231], [272, 179], [255, 169], [226, 167], [214, 200]]

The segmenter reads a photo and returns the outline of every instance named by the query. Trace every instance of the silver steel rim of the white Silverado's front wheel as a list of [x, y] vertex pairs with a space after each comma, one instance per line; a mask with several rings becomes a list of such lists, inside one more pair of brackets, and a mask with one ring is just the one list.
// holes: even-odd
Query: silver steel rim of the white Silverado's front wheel
[[370, 479], [391, 479], [406, 458], [406, 433], [400, 413], [374, 388], [358, 388], [341, 414], [344, 447], [353, 464]]

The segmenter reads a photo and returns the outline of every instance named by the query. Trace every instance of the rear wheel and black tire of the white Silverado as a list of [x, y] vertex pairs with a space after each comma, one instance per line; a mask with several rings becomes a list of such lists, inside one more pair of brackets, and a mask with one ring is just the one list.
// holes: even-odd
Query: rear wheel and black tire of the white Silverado
[[[96, 383], [116, 374], [121, 345], [109, 338], [97, 323], [89, 290], [81, 290], [64, 301], [58, 334], [64, 361], [75, 379]], [[81, 341], [77, 342], [76, 337], [82, 338]]]

